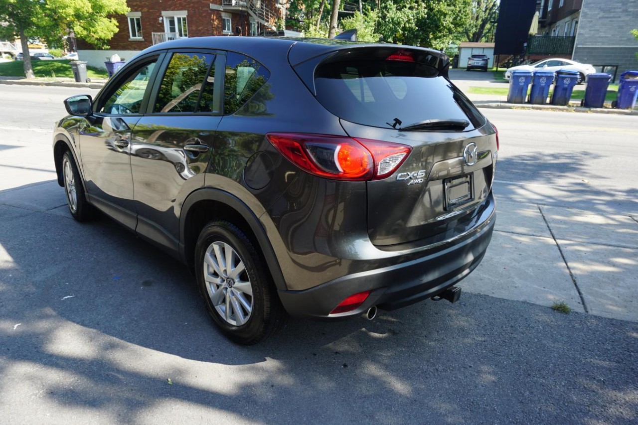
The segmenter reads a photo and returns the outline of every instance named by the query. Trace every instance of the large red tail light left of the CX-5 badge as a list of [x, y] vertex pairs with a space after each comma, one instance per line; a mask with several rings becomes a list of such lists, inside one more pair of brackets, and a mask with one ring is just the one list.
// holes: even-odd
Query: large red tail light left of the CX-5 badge
[[405, 161], [412, 147], [367, 138], [306, 133], [268, 133], [277, 150], [302, 170], [328, 179], [385, 179]]

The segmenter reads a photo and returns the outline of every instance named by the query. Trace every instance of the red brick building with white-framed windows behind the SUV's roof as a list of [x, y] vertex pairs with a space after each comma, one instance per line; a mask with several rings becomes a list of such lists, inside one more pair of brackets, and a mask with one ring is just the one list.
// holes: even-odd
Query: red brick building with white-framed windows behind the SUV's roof
[[115, 17], [119, 31], [108, 50], [78, 40], [78, 55], [91, 66], [118, 54], [130, 59], [145, 48], [184, 37], [258, 35], [276, 29], [280, 0], [127, 0], [130, 12]]

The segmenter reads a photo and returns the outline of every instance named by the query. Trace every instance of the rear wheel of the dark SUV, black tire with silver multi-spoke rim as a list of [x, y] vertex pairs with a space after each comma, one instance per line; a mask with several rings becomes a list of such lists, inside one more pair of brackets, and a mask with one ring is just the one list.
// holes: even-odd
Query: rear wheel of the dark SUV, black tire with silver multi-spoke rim
[[253, 345], [285, 325], [288, 316], [271, 274], [239, 227], [208, 223], [197, 240], [195, 267], [206, 309], [226, 338]]

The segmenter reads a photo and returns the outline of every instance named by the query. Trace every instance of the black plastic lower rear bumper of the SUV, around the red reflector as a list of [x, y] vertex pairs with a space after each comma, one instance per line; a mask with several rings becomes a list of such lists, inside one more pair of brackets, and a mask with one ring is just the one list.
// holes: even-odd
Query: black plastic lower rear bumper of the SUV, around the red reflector
[[[463, 239], [443, 249], [423, 251], [423, 256], [396, 265], [348, 274], [302, 291], [279, 291], [284, 307], [294, 317], [339, 320], [362, 314], [371, 306], [397, 309], [433, 297], [462, 280], [479, 265], [492, 238], [493, 211]], [[330, 315], [346, 297], [372, 290], [357, 309]]]

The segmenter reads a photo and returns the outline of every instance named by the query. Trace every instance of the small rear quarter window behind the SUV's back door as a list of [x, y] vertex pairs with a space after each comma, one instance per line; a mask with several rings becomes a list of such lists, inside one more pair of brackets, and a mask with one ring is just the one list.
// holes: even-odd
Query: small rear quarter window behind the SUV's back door
[[255, 59], [228, 53], [224, 79], [224, 114], [234, 114], [270, 77], [271, 73]]

